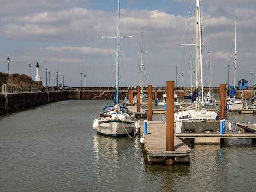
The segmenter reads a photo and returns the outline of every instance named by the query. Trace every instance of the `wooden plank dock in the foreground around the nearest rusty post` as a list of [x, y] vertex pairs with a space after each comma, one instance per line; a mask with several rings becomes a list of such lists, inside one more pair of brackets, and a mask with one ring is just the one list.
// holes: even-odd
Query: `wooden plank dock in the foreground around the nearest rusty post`
[[[140, 122], [140, 132], [144, 132], [144, 122]], [[174, 151], [166, 151], [166, 126], [161, 121], [147, 124], [147, 135], [144, 138], [144, 149], [148, 162], [165, 163], [166, 157], [174, 156], [174, 163], [189, 163], [191, 149], [174, 136]]]

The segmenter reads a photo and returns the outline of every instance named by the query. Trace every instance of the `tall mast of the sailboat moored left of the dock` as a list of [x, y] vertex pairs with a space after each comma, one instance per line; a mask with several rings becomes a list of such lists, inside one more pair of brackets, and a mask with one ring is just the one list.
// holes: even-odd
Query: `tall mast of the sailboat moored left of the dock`
[[118, 75], [119, 75], [119, 13], [120, 2], [118, 0], [118, 16], [117, 16], [117, 41], [116, 41], [116, 108], [118, 108]]

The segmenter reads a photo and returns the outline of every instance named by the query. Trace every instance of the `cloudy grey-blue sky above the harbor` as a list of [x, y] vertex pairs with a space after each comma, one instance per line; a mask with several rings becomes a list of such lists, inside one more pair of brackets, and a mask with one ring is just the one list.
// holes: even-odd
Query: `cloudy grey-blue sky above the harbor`
[[[29, 76], [31, 64], [33, 80], [38, 62], [44, 85], [47, 68], [47, 85], [54, 84], [58, 71], [58, 84], [115, 86], [116, 38], [102, 36], [116, 37], [117, 5], [117, 0], [1, 1], [0, 72], [8, 73], [10, 57], [10, 74]], [[242, 77], [251, 86], [256, 82], [255, 0], [201, 0], [200, 5], [203, 85], [209, 76], [211, 86], [234, 84], [237, 17], [236, 84]], [[133, 38], [120, 38], [119, 86], [140, 85], [141, 27], [143, 86], [166, 86], [166, 81], [194, 86], [195, 46], [182, 46], [196, 41], [194, 7], [195, 0], [120, 0], [120, 37]]]

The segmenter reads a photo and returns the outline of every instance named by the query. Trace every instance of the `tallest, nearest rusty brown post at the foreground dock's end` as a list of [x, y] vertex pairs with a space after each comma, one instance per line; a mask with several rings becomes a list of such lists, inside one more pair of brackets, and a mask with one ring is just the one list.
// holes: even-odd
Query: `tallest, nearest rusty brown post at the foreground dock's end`
[[[166, 83], [166, 151], [174, 150], [174, 81]], [[173, 156], [166, 157], [166, 164], [173, 164]]]

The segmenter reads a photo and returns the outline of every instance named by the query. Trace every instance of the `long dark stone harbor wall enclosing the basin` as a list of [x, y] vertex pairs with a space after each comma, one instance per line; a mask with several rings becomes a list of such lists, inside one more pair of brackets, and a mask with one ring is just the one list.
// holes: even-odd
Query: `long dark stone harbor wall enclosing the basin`
[[[215, 93], [219, 93], [219, 89], [215, 89]], [[205, 92], [208, 90], [206, 89]], [[157, 90], [157, 98], [163, 99], [163, 94], [166, 90]], [[187, 90], [176, 90], [178, 99], [182, 99], [184, 95], [188, 94]], [[137, 94], [134, 89], [134, 96]], [[152, 98], [155, 99], [155, 91], [153, 90]], [[254, 96], [252, 90], [244, 90], [244, 98], [250, 98]], [[128, 90], [120, 90], [119, 98], [122, 100], [127, 98]], [[236, 92], [237, 98], [242, 98], [242, 90]], [[22, 110], [37, 105], [43, 105], [51, 102], [57, 102], [61, 100], [77, 99], [77, 100], [92, 100], [92, 99], [114, 99], [113, 90], [73, 90], [73, 91], [52, 91], [52, 92], [26, 92], [26, 93], [8, 93], [0, 94], [0, 114], [6, 112], [12, 112], [16, 110]]]

